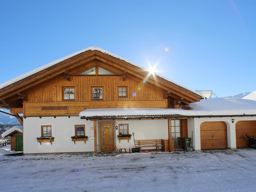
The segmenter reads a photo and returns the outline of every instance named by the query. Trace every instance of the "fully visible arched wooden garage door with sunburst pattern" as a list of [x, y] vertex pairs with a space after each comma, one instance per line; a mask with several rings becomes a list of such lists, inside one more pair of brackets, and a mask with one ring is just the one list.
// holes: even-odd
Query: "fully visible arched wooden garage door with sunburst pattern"
[[201, 149], [227, 148], [227, 125], [222, 121], [204, 122], [200, 125]]

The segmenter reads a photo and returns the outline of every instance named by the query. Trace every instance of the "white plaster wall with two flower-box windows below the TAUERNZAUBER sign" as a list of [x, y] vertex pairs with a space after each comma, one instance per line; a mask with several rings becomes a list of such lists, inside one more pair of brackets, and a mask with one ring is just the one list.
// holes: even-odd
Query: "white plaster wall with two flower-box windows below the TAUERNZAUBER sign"
[[[79, 116], [63, 117], [27, 117], [23, 120], [23, 150], [24, 154], [28, 153], [62, 153], [62, 152], [91, 152], [94, 151], [94, 142], [89, 141], [93, 137], [93, 121], [80, 119]], [[74, 125], [85, 124], [85, 134], [88, 136], [86, 144], [84, 141], [71, 139], [75, 135]], [[51, 125], [52, 137], [54, 142], [42, 143], [37, 142], [36, 137], [41, 136], [41, 125]]]

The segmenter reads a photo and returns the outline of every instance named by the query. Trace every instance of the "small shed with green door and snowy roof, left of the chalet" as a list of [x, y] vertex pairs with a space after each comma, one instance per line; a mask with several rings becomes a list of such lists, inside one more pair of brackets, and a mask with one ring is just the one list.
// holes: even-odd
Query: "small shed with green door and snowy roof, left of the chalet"
[[23, 126], [14, 126], [2, 133], [2, 137], [11, 137], [11, 150], [23, 151]]

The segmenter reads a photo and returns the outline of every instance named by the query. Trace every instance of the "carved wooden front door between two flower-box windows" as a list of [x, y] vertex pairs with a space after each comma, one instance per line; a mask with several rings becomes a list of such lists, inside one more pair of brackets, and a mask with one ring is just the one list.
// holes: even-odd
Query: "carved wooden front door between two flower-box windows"
[[100, 147], [101, 151], [113, 151], [113, 123], [100, 123]]

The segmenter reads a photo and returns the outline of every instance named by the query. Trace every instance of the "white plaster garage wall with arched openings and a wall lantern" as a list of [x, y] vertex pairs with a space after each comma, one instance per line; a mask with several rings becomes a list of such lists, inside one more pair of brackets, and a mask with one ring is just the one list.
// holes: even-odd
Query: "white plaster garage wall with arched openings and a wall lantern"
[[[234, 123], [231, 120], [234, 119]], [[191, 137], [193, 131], [194, 150], [201, 150], [200, 125], [206, 121], [223, 121], [227, 124], [228, 148], [236, 149], [236, 122], [256, 120], [256, 117], [212, 117], [212, 118], [194, 118], [188, 119], [188, 137]]]

